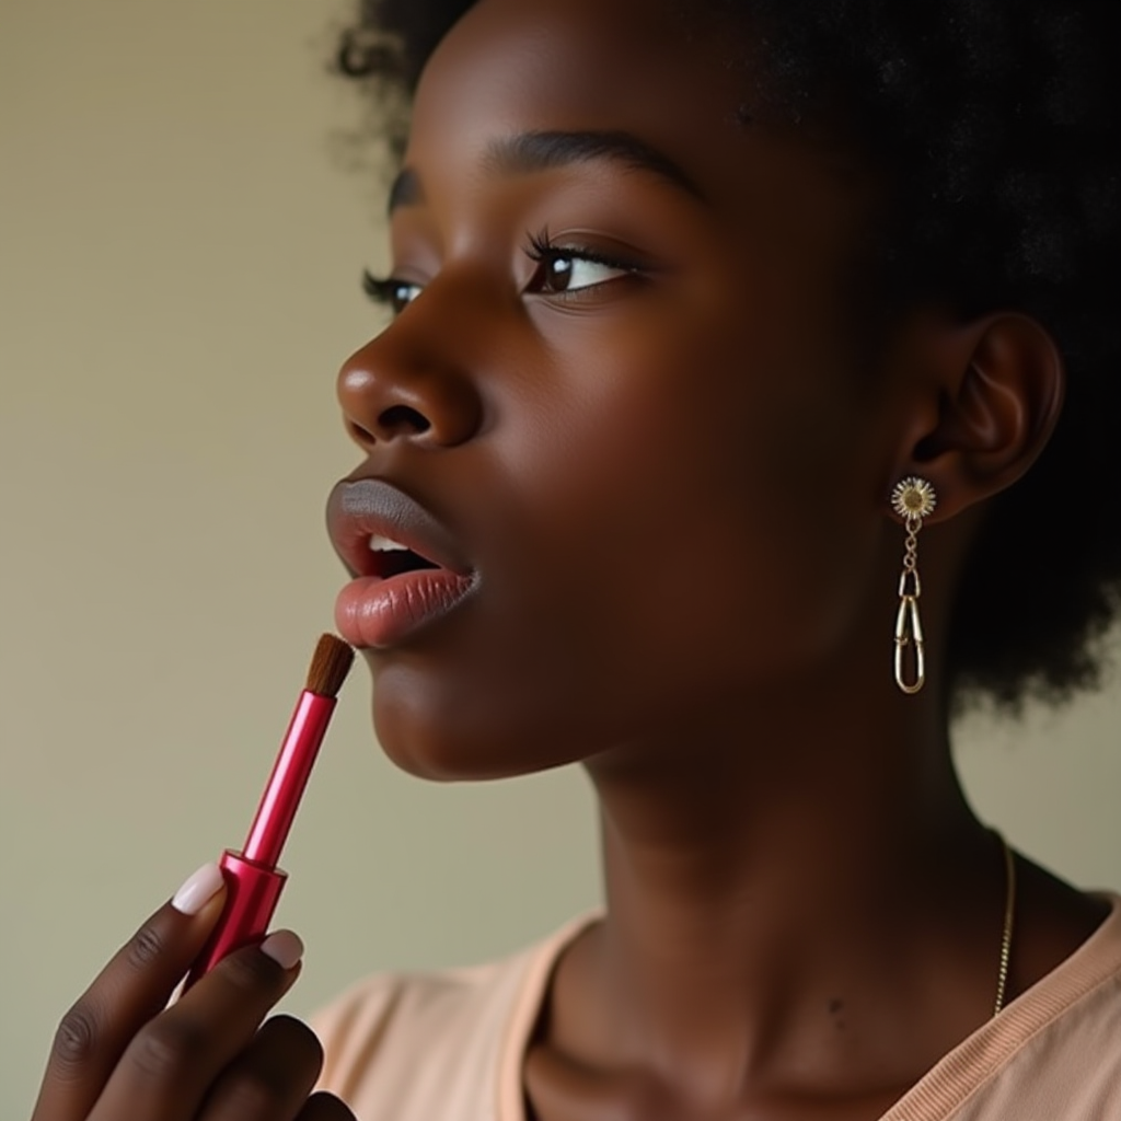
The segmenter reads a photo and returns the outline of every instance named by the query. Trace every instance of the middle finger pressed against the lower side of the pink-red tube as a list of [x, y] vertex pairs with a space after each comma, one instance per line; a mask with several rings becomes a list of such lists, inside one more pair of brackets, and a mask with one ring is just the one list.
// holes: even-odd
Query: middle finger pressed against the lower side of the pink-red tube
[[223, 1068], [296, 981], [303, 952], [296, 935], [280, 930], [219, 962], [136, 1034], [89, 1121], [193, 1119]]

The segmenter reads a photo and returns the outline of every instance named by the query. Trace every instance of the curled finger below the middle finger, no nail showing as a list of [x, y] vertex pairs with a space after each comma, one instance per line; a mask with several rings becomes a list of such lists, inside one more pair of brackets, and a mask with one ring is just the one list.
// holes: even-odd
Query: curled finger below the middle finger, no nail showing
[[290, 1016], [276, 1016], [222, 1072], [198, 1121], [293, 1121], [322, 1068], [315, 1032]]

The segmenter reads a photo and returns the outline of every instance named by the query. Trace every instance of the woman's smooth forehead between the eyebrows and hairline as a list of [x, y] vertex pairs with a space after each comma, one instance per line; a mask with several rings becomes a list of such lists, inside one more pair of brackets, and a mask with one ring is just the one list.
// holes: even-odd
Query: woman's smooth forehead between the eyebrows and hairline
[[481, 0], [426, 67], [413, 132], [445, 156], [497, 133], [590, 127], [711, 152], [742, 142], [741, 87], [717, 38], [663, 0]]

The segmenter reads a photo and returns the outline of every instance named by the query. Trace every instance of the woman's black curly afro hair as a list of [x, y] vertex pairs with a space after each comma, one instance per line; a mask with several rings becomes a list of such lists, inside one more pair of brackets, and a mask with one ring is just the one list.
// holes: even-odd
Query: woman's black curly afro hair
[[[360, 0], [339, 70], [407, 110], [426, 61], [472, 6]], [[1063, 414], [1038, 462], [989, 503], [953, 608], [949, 687], [958, 706], [988, 696], [1017, 710], [1097, 685], [1121, 585], [1121, 3], [686, 7], [750, 20], [740, 61], [762, 45], [750, 54], [745, 127], [757, 105], [795, 123], [826, 94], [842, 106], [845, 139], [890, 185], [890, 290], [963, 316], [1015, 308], [1055, 339]], [[398, 152], [406, 120], [390, 113], [386, 126]]]

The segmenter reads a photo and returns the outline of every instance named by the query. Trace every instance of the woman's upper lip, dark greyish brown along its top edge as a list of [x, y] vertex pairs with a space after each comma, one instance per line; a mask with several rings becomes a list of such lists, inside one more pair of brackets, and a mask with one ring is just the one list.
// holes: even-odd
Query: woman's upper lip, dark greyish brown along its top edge
[[389, 537], [460, 576], [473, 575], [447, 529], [416, 499], [383, 479], [336, 483], [327, 499], [327, 532], [353, 576], [377, 575], [370, 538]]

